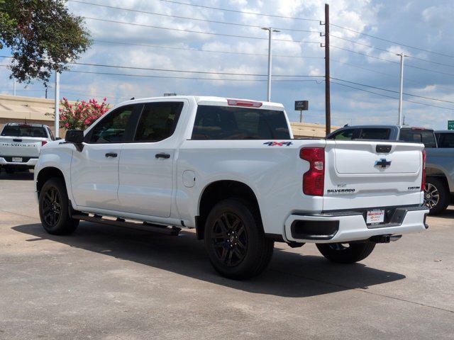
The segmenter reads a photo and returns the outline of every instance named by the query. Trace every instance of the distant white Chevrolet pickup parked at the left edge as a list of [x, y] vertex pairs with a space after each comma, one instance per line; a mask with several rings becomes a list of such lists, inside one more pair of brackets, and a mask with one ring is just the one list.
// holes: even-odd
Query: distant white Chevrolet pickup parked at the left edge
[[40, 149], [54, 140], [47, 125], [8, 123], [0, 134], [0, 168], [8, 174], [33, 169]]

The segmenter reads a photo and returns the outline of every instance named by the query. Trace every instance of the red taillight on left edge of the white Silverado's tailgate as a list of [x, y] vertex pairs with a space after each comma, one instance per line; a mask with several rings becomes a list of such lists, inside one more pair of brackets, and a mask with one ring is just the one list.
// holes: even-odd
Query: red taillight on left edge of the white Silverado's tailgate
[[304, 195], [323, 196], [325, 183], [325, 149], [323, 147], [303, 147], [299, 158], [309, 162], [309, 171], [303, 175]]

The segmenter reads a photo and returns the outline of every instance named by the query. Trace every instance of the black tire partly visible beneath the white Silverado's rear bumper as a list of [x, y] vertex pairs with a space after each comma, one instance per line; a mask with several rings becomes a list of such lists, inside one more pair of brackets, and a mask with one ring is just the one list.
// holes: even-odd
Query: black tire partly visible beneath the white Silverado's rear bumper
[[323, 256], [329, 261], [336, 263], [355, 263], [364, 260], [372, 253], [375, 248], [375, 243], [326, 243], [316, 244], [317, 248]]

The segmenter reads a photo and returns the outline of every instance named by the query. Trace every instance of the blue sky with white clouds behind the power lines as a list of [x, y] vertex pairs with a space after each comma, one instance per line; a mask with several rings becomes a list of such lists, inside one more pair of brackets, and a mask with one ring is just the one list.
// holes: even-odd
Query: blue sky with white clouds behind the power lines
[[[309, 123], [324, 122], [324, 83], [323, 79], [314, 77], [323, 75], [323, 48], [319, 42], [323, 38], [319, 31], [323, 26], [324, 3], [318, 0], [180, 0], [192, 4], [231, 8], [238, 11], [269, 13], [277, 16], [310, 18], [316, 21], [256, 16], [253, 14], [218, 11], [209, 8], [185, 6], [160, 0], [82, 0], [96, 4], [133, 8], [139, 11], [162, 13], [172, 16], [201, 18], [210, 21], [226, 21], [253, 26], [272, 26], [282, 28], [275, 33], [273, 42], [273, 74], [307, 75], [311, 77], [275, 77], [272, 84], [272, 101], [284, 103], [290, 120], [297, 120], [299, 113], [294, 112], [294, 101], [309, 100], [309, 111], [304, 113], [304, 121]], [[418, 101], [444, 108], [423, 106], [404, 102], [403, 111], [406, 123], [410, 125], [445, 128], [448, 119], [454, 119], [454, 37], [450, 21], [454, 16], [453, 1], [328, 1], [331, 11], [331, 23], [352, 30], [375, 35], [386, 40], [400, 42], [404, 45], [419, 47], [414, 49], [393, 42], [377, 40], [360, 35], [351, 30], [331, 26], [331, 77], [353, 81], [355, 83], [377, 86], [392, 91], [399, 90], [399, 57], [404, 52], [407, 67], [404, 74], [404, 92], [418, 96], [438, 98], [432, 101], [425, 98], [404, 96], [404, 99]], [[70, 11], [89, 18], [101, 18], [113, 21], [124, 21], [140, 25], [196, 30], [225, 35], [243, 35], [256, 38], [267, 38], [267, 33], [260, 28], [232, 26], [221, 23], [208, 23], [170, 16], [157, 16], [149, 13], [123, 11], [114, 8], [103, 8], [69, 1]], [[177, 69], [203, 72], [225, 72], [240, 74], [267, 73], [267, 40], [234, 38], [222, 35], [206, 35], [177, 30], [131, 26], [85, 19], [94, 45], [82, 55], [79, 62], [94, 64], [111, 64], [128, 67], [145, 67], [157, 69]], [[311, 30], [314, 33], [300, 32]], [[336, 37], [340, 38], [336, 38]], [[357, 42], [348, 42], [341, 38]], [[108, 42], [106, 42], [108, 41]], [[305, 41], [305, 42], [298, 42]], [[115, 42], [115, 43], [112, 43]], [[121, 45], [135, 44], [135, 45]], [[362, 45], [360, 45], [362, 44]], [[140, 45], [154, 45], [140, 46]], [[156, 47], [161, 46], [161, 47]], [[366, 46], [368, 45], [368, 46]], [[164, 47], [181, 47], [162, 48]], [[336, 46], [336, 47], [334, 47]], [[378, 47], [378, 48], [372, 48]], [[341, 48], [338, 48], [341, 47]], [[218, 52], [199, 52], [194, 50]], [[360, 52], [348, 52], [347, 49]], [[436, 53], [426, 52], [432, 51]], [[391, 51], [391, 52], [386, 52]], [[5, 55], [8, 51], [1, 51]], [[235, 53], [223, 53], [235, 52]], [[247, 53], [240, 54], [240, 53]], [[414, 59], [414, 57], [422, 60]], [[384, 61], [390, 60], [391, 62]], [[8, 60], [1, 60], [6, 64]], [[441, 64], [435, 64], [435, 63]], [[87, 99], [89, 96], [102, 98], [106, 96], [111, 103], [119, 103], [134, 96], [160, 96], [164, 93], [215, 95], [233, 98], [253, 98], [265, 100], [266, 77], [189, 74], [179, 72], [162, 72], [132, 69], [114, 69], [88, 65], [74, 65], [74, 71], [123, 73], [136, 75], [153, 75], [161, 77], [201, 77], [231, 80], [201, 79], [165, 79], [148, 77], [123, 77], [106, 74], [85, 74], [64, 72], [61, 76], [62, 96], [70, 99]], [[428, 70], [431, 71], [428, 71]], [[7, 70], [0, 69], [0, 93], [11, 93], [12, 81], [8, 79]], [[244, 81], [260, 79], [260, 81]], [[278, 81], [278, 80], [304, 81]], [[345, 81], [341, 84], [377, 92], [393, 98], [377, 96], [366, 91], [359, 91], [339, 84], [331, 85], [331, 112], [333, 125], [396, 123], [398, 94], [388, 91], [358, 86]], [[35, 83], [24, 89], [17, 86], [18, 94], [26, 96], [44, 96], [42, 84]], [[53, 96], [50, 89], [49, 96]], [[446, 102], [448, 101], [448, 102]]]

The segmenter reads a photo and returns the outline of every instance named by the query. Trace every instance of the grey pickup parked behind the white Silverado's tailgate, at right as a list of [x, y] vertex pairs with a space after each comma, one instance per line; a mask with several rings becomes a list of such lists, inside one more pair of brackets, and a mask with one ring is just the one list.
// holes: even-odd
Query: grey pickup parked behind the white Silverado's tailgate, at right
[[[436, 134], [438, 133], [438, 138]], [[445, 147], [454, 134], [440, 137], [442, 132], [434, 133], [431, 129], [413, 128], [405, 125], [358, 125], [345, 126], [330, 135], [328, 140], [393, 140], [423, 143], [426, 147], [426, 187], [424, 200], [431, 215], [443, 212], [450, 203], [450, 194], [454, 193], [454, 149]], [[437, 140], [443, 146], [437, 145]]]

